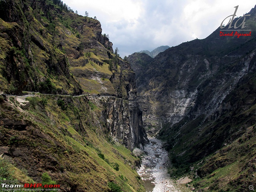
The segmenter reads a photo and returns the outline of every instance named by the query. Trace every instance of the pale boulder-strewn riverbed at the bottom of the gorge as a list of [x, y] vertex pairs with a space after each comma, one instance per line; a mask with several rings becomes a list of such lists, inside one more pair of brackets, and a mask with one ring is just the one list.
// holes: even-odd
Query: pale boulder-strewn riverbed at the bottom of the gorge
[[189, 191], [167, 173], [169, 159], [167, 151], [162, 148], [162, 141], [148, 138], [150, 143], [144, 148], [145, 155], [142, 158], [141, 167], [137, 170], [144, 180], [146, 192], [183, 192]]

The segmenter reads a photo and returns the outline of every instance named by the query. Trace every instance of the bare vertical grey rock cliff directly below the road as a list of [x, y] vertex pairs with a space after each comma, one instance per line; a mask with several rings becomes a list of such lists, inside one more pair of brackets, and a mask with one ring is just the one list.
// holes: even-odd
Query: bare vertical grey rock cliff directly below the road
[[102, 119], [106, 119], [106, 127], [112, 138], [130, 150], [135, 147], [143, 149], [148, 139], [142, 127], [142, 112], [138, 101], [116, 97], [101, 99], [104, 100]]

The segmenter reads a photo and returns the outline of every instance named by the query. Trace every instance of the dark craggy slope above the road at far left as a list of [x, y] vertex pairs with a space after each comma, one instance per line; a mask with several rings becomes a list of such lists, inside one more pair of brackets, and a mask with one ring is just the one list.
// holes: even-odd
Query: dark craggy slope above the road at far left
[[50, 11], [54, 5], [45, 1], [0, 4], [1, 90], [80, 94], [81, 87], [70, 76], [68, 58], [54, 41], [59, 31], [53, 15], [61, 10]]

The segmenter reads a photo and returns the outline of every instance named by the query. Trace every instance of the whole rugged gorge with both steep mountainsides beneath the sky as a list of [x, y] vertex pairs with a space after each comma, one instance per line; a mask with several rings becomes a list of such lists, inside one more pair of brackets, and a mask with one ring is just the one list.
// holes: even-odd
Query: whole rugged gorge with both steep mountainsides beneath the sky
[[[256, 8], [249, 13], [251, 36], [218, 28], [154, 58], [122, 59], [96, 17], [59, 0], [0, 0], [0, 180], [142, 192], [141, 169], [153, 162], [170, 185], [159, 190], [255, 185]], [[144, 157], [133, 151], [144, 148]], [[178, 187], [182, 177], [190, 182]]]

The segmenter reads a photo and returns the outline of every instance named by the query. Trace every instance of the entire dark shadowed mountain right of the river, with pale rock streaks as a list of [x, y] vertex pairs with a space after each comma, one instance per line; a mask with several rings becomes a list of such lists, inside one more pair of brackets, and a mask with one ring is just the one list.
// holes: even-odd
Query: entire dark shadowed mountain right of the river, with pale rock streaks
[[189, 175], [198, 191], [246, 191], [255, 183], [256, 8], [248, 14], [247, 36], [235, 36], [240, 28], [220, 36], [218, 28], [154, 59], [128, 57], [145, 129], [166, 141], [171, 176]]

